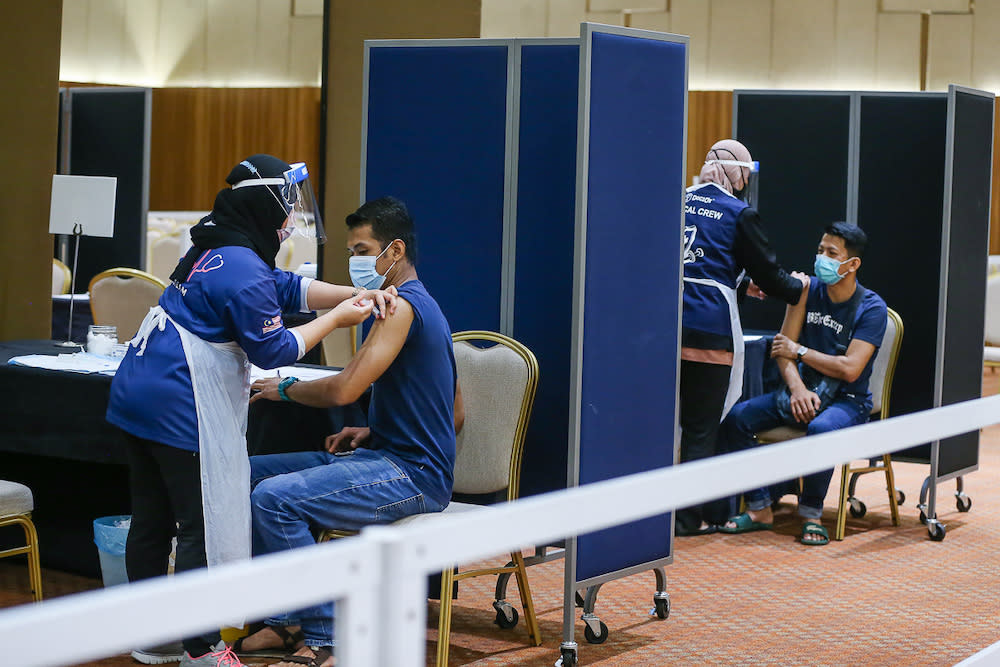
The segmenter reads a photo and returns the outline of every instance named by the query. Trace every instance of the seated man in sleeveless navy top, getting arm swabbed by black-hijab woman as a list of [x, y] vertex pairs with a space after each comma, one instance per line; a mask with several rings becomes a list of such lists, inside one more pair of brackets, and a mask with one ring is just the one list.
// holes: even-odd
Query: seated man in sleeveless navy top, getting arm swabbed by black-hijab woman
[[[314, 529], [359, 530], [439, 512], [451, 499], [464, 411], [451, 329], [414, 268], [413, 222], [401, 201], [385, 197], [347, 216], [347, 226], [351, 280], [359, 290], [398, 290], [395, 313], [375, 321], [341, 373], [258, 381], [250, 400], [331, 407], [356, 401], [371, 385], [368, 428], [331, 435], [325, 452], [251, 457], [255, 555], [313, 544]], [[286, 629], [293, 619], [301, 635]], [[333, 664], [333, 605], [269, 619], [235, 648], [263, 655], [294, 649], [297, 637], [304, 641], [298, 659], [286, 656], [281, 667]]]

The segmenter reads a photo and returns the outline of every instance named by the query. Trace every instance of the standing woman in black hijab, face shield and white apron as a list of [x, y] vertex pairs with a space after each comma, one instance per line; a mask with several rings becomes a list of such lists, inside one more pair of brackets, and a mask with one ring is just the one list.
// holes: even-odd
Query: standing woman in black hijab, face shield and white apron
[[[253, 155], [226, 182], [111, 385], [107, 420], [128, 443], [130, 581], [166, 574], [175, 533], [177, 572], [250, 557], [250, 363], [293, 364], [373, 305], [382, 316], [395, 308], [392, 290], [275, 268], [291, 234], [325, 240], [304, 164]], [[282, 312], [319, 308], [332, 310], [294, 329], [282, 323]], [[183, 649], [181, 665], [239, 664], [218, 631], [185, 639]]]

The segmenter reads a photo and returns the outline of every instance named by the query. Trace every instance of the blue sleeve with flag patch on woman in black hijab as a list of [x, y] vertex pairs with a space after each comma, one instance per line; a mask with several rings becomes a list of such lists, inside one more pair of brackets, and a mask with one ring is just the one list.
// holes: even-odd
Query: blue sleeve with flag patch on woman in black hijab
[[261, 368], [294, 364], [299, 343], [281, 320], [279, 292], [273, 281], [257, 281], [236, 292], [225, 308], [233, 340]]

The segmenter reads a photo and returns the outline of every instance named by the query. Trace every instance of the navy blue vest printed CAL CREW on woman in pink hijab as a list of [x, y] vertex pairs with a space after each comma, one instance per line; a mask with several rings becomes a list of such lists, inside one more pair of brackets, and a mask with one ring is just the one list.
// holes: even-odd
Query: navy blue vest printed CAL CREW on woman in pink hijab
[[[741, 273], [733, 244], [745, 202], [715, 183], [688, 188], [684, 204], [684, 277], [714, 280], [733, 289]], [[715, 287], [684, 283], [684, 328], [732, 336], [729, 305]]]

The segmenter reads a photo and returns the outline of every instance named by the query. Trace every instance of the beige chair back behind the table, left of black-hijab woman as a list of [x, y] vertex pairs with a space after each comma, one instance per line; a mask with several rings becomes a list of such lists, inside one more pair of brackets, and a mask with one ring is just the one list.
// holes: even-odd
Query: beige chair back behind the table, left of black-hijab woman
[[157, 304], [167, 284], [137, 269], [108, 269], [90, 281], [90, 312], [94, 324], [118, 327], [118, 340], [135, 335], [149, 309]]

